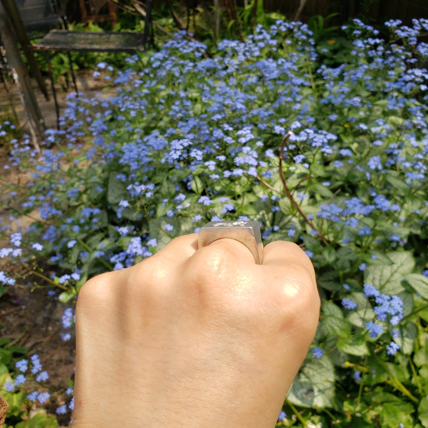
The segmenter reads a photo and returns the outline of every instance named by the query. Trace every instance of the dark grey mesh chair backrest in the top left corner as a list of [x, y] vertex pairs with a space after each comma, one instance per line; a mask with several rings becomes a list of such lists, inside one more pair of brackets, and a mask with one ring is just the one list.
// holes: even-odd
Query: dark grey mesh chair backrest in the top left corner
[[62, 24], [62, 4], [57, 0], [15, 0], [27, 31], [49, 31]]

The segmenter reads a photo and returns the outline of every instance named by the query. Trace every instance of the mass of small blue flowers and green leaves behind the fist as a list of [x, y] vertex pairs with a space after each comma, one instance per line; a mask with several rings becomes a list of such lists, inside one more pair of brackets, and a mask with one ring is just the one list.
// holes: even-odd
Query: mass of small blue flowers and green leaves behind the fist
[[305, 25], [280, 21], [220, 43], [213, 58], [177, 34], [128, 59], [117, 96], [70, 95], [65, 131], [47, 139], [55, 149], [12, 151], [34, 184], [5, 207], [36, 220], [21, 237], [4, 231], [10, 262], [72, 306], [86, 279], [210, 220], [257, 220], [264, 244], [306, 251], [322, 300], [288, 418], [425, 427], [428, 88], [417, 61], [427, 55], [411, 37], [391, 45], [355, 26], [339, 67], [317, 64]]

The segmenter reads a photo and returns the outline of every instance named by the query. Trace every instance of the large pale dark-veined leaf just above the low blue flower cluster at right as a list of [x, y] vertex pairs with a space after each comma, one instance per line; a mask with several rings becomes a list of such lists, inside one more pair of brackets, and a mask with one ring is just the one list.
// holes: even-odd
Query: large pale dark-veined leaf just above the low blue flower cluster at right
[[388, 253], [391, 264], [373, 263], [364, 271], [364, 282], [373, 284], [382, 293], [398, 294], [404, 291], [401, 280], [412, 272], [415, 259], [411, 251]]

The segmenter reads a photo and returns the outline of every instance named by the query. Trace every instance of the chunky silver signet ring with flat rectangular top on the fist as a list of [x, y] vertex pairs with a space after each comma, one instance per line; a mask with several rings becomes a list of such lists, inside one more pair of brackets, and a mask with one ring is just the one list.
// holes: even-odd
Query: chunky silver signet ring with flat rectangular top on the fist
[[199, 229], [198, 246], [206, 247], [221, 238], [242, 242], [253, 254], [256, 264], [262, 264], [263, 244], [258, 221], [210, 221]]

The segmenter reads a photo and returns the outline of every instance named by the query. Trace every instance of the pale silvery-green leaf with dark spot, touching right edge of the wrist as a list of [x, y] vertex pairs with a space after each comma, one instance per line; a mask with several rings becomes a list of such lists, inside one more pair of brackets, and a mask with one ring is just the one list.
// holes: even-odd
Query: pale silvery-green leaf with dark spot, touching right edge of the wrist
[[295, 377], [287, 398], [302, 407], [333, 407], [334, 377], [333, 363], [328, 357], [314, 358]]

